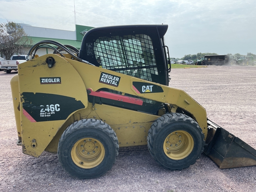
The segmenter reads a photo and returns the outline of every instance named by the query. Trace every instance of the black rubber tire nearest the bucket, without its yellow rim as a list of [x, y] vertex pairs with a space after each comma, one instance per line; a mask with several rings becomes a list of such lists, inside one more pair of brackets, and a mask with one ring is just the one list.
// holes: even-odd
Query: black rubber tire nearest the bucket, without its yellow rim
[[[185, 131], [189, 132], [194, 139], [194, 148], [192, 152], [182, 160], [172, 160], [164, 153], [163, 144], [165, 138], [172, 132], [182, 130], [182, 128], [172, 129], [173, 125], [178, 124], [187, 127]], [[154, 160], [164, 168], [170, 170], [181, 170], [195, 164], [204, 152], [204, 133], [195, 120], [181, 113], [168, 113], [158, 118], [148, 131], [148, 150]]]

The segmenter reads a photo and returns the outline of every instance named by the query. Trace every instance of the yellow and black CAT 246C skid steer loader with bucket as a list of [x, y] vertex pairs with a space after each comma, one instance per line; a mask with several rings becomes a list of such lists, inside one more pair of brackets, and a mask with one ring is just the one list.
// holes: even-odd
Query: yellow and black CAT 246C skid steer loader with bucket
[[[168, 87], [168, 25], [93, 28], [80, 50], [35, 44], [11, 80], [23, 153], [57, 153], [80, 179], [104, 175], [119, 147], [148, 145], [157, 163], [188, 168], [207, 154], [220, 168], [256, 165], [256, 150], [208, 120], [182, 90]], [[53, 54], [37, 56], [40, 48]]]

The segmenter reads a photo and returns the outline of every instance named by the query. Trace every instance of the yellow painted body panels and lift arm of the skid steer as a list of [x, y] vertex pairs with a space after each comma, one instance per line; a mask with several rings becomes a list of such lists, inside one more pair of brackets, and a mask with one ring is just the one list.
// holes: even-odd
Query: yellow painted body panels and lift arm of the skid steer
[[[51, 69], [49, 69], [48, 65], [45, 63], [49, 56], [56, 61], [55, 67]], [[119, 76], [119, 86], [113, 87], [112, 85], [99, 83], [100, 75], [104, 72], [113, 76]], [[92, 106], [92, 104], [88, 102], [87, 90], [96, 92], [101, 88], [109, 88], [119, 91], [122, 94], [125, 93], [159, 101], [161, 103], [168, 103], [172, 112], [176, 112], [176, 108], [178, 107], [183, 108], [192, 114], [193, 118], [202, 128], [205, 138], [207, 136], [207, 118], [205, 109], [187, 93], [176, 88], [170, 88], [168, 86], [148, 82], [117, 72], [109, 72], [109, 70], [104, 68], [82, 64], [76, 60], [70, 60], [51, 54], [35, 58], [20, 65], [19, 74], [17, 76], [18, 82], [20, 82], [20, 93], [16, 92], [14, 98], [20, 98], [21, 103], [19, 105], [18, 102], [16, 102], [14, 108], [17, 118], [19, 118], [20, 115], [20, 120], [22, 122], [18, 132], [21, 133], [19, 135], [22, 138], [23, 152], [28, 155], [38, 157], [45, 149], [56, 153], [60, 136], [68, 125], [77, 120], [89, 118], [103, 120], [109, 124], [117, 134], [120, 147], [146, 145], [148, 130], [151, 127], [151, 124], [159, 116], [104, 104], [95, 104]], [[52, 80], [52, 78], [56, 77], [61, 77], [61, 84], [59, 84], [59, 82], [50, 82], [48, 84], [44, 84], [44, 82], [40, 83], [40, 78]], [[136, 89], [133, 88], [132, 84], [134, 82], [141, 82], [160, 87], [162, 88], [162, 91], [141, 94], [136, 92]], [[57, 102], [59, 98], [56, 98], [57, 100], [49, 101], [48, 103], [49, 106], [54, 105], [54, 114], [51, 109], [49, 109], [49, 112], [45, 112], [46, 105], [44, 107], [42, 106], [41, 108], [38, 108], [38, 111], [40, 112], [36, 114], [39, 119], [39, 121], [37, 121], [23, 108], [27, 99], [27, 97], [24, 98], [24, 93], [31, 93], [30, 95], [35, 96], [35, 98], [37, 93], [45, 94], [42, 98], [48, 97], [48, 95], [72, 98], [74, 101], [80, 102], [80, 107], [76, 108], [76, 110], [74, 109], [74, 111], [72, 111], [65, 119], [40, 121], [40, 119], [54, 116], [62, 110], [67, 110], [67, 108], [72, 105], [70, 103], [65, 103], [64, 106], [59, 106], [59, 103]], [[39, 98], [36, 98], [36, 100], [37, 99]], [[40, 103], [40, 100], [38, 102]], [[60, 111], [55, 110], [56, 104], [58, 104]], [[18, 111], [18, 106], [20, 106], [20, 111]], [[44, 112], [41, 112], [41, 110]]]

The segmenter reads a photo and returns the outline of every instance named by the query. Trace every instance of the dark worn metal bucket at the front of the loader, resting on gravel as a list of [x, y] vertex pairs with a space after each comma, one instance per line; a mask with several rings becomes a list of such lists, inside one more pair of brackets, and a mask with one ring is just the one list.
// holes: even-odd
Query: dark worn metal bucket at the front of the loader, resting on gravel
[[254, 148], [210, 120], [207, 123], [209, 130], [212, 129], [215, 133], [204, 153], [220, 168], [256, 165], [256, 150]]

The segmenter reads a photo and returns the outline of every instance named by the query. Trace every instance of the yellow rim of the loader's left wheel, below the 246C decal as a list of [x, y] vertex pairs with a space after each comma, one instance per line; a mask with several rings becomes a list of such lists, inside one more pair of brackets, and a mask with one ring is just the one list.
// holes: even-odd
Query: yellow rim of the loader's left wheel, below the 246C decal
[[103, 161], [104, 156], [103, 144], [93, 138], [77, 141], [71, 150], [72, 160], [80, 168], [94, 168]]

